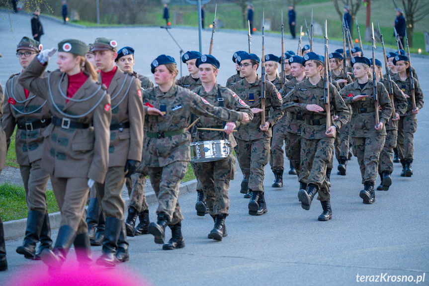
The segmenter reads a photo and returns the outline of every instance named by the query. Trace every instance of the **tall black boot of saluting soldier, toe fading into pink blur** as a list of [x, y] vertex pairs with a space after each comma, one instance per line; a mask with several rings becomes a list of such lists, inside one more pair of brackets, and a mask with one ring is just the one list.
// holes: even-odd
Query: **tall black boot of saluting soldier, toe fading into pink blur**
[[48, 266], [50, 274], [58, 274], [63, 262], [66, 260], [67, 253], [75, 241], [76, 231], [69, 225], [63, 225], [58, 231], [57, 241], [54, 249], [45, 248], [40, 257], [44, 264]]

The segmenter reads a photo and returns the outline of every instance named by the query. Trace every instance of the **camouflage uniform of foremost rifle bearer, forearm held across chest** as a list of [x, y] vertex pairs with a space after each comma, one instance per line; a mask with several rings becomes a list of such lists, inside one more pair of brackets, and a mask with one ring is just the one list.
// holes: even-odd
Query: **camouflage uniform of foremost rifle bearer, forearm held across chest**
[[[302, 112], [305, 118], [301, 129], [301, 172], [299, 182], [318, 187], [318, 199], [330, 199], [329, 186], [326, 181], [326, 168], [334, 150], [334, 138], [326, 135], [326, 111], [307, 110], [307, 104], [317, 104], [325, 108], [324, 80], [313, 86], [309, 79], [299, 82], [289, 92], [283, 103], [283, 110], [291, 113]], [[329, 84], [331, 112], [338, 115], [333, 122], [338, 128], [347, 122], [348, 108], [333, 84]]]

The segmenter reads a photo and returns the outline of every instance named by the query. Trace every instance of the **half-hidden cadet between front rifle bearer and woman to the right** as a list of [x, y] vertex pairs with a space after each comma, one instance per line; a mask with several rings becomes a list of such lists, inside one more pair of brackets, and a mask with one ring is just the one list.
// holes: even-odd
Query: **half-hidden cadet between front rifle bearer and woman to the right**
[[[329, 65], [331, 66], [332, 79], [335, 80], [340, 85], [340, 87], [343, 88], [347, 84], [351, 84], [353, 82], [353, 80], [349, 75], [347, 75], [346, 77], [347, 80], [344, 80], [343, 56], [340, 53], [334, 52], [329, 54]], [[349, 144], [350, 144], [349, 121], [351, 117], [351, 107], [348, 106], [348, 109], [350, 111], [348, 121], [340, 128], [340, 130], [338, 130], [340, 134], [337, 134], [335, 144], [334, 144], [335, 155], [339, 161], [337, 174], [341, 176], [345, 176], [347, 160], [348, 160]]]

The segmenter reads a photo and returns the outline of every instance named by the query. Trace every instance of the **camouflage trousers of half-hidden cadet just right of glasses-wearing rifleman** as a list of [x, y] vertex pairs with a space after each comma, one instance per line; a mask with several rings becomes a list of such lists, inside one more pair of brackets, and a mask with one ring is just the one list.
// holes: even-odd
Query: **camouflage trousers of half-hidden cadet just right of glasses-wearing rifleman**
[[271, 170], [284, 170], [283, 142], [286, 140], [285, 126], [280, 122], [272, 126], [271, 152], [269, 166]]

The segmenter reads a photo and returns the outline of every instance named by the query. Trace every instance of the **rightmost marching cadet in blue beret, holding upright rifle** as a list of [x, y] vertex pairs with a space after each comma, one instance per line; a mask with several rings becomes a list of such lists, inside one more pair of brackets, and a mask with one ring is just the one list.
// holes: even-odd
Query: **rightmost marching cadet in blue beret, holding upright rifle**
[[393, 60], [398, 74], [392, 77], [405, 96], [408, 96], [408, 106], [405, 114], [400, 114], [398, 121], [398, 142], [397, 149], [399, 159], [402, 164], [401, 177], [411, 177], [413, 175], [414, 159], [414, 132], [417, 130], [417, 114], [423, 107], [423, 92], [417, 78], [413, 78], [415, 87], [416, 109], [413, 109], [411, 97], [410, 59], [407, 56], [399, 55]]

